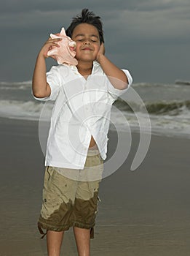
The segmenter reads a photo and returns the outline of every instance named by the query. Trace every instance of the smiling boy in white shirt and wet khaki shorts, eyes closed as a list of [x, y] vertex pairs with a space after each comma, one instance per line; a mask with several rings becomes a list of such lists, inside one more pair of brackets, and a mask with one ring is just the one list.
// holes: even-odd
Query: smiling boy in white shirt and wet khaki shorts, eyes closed
[[[60, 64], [46, 74], [48, 39], [33, 72], [33, 96], [55, 100], [47, 140], [39, 230], [47, 230], [49, 256], [60, 255], [64, 230], [73, 227], [79, 256], [90, 255], [98, 188], [106, 159], [111, 104], [132, 78], [104, 55], [100, 17], [87, 9], [66, 30], [76, 42], [77, 66]], [[95, 175], [95, 176], [94, 176]], [[41, 230], [42, 231], [42, 230]]]

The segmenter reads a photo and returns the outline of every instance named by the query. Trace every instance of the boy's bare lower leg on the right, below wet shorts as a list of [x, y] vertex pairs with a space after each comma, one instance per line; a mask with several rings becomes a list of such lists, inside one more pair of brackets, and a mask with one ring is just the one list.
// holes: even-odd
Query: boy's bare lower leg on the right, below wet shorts
[[90, 229], [74, 227], [74, 236], [79, 256], [90, 256]]

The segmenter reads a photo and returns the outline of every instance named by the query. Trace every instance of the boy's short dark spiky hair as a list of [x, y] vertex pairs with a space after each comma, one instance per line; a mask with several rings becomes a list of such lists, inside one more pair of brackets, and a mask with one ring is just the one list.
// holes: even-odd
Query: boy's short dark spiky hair
[[66, 34], [68, 37], [72, 37], [73, 31], [77, 25], [81, 23], [87, 23], [95, 26], [98, 29], [100, 36], [100, 43], [104, 42], [103, 39], [103, 23], [100, 21], [100, 17], [96, 16], [94, 12], [90, 12], [88, 9], [83, 9], [81, 15], [77, 15], [72, 19], [70, 26], [66, 29]]

